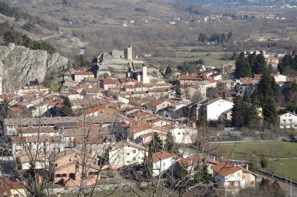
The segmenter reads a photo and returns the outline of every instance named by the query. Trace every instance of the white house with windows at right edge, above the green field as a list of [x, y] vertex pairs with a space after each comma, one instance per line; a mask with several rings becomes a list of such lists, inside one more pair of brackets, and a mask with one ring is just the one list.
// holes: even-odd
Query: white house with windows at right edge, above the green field
[[297, 114], [282, 109], [277, 112], [277, 117], [279, 128], [297, 128]]

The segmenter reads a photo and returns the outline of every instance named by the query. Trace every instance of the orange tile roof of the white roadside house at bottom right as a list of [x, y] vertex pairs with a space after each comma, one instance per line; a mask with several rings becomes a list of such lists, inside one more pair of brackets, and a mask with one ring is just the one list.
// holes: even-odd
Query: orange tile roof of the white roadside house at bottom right
[[214, 172], [217, 172], [217, 174], [219, 174], [223, 177], [231, 175], [231, 174], [237, 172], [238, 170], [244, 170], [245, 172], [249, 172], [249, 173], [255, 175], [254, 172], [251, 172], [241, 166], [238, 166], [238, 165], [235, 165], [235, 164], [232, 164], [229, 162], [219, 163], [219, 164], [211, 167], [211, 169], [213, 169]]

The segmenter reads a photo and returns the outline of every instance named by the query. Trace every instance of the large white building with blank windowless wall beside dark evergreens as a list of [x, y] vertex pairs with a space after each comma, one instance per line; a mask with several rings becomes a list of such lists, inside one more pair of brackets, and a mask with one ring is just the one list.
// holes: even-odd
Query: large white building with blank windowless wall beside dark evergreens
[[203, 114], [207, 120], [218, 120], [223, 112], [232, 107], [232, 101], [216, 98], [203, 104]]

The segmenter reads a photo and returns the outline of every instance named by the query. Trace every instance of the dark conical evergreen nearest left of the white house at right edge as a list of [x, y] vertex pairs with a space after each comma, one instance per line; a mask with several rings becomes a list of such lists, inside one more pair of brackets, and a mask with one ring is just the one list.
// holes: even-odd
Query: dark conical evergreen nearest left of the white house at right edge
[[277, 110], [275, 108], [274, 99], [271, 96], [265, 98], [262, 114], [265, 121], [272, 125], [277, 124]]

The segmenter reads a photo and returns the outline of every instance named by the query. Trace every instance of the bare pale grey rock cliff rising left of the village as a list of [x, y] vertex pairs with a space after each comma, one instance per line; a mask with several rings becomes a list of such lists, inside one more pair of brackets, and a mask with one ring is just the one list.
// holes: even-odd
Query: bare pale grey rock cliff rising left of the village
[[14, 88], [42, 83], [46, 74], [65, 67], [68, 59], [58, 53], [50, 55], [46, 51], [30, 50], [10, 43], [0, 46], [0, 61], [3, 63], [3, 88]]

